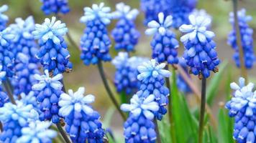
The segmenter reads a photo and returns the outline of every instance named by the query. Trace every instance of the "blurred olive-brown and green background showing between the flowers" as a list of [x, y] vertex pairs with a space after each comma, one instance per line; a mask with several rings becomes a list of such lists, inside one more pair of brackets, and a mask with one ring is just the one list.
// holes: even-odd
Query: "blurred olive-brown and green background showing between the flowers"
[[[140, 9], [140, 0], [69, 0], [70, 4], [70, 13], [62, 16], [63, 22], [65, 22], [68, 26], [70, 35], [79, 44], [80, 37], [83, 34], [83, 29], [85, 29], [85, 25], [79, 22], [81, 16], [83, 16], [83, 7], [91, 6], [93, 3], [99, 4], [100, 2], [104, 2], [106, 6], [110, 6], [111, 10], [115, 10], [115, 4], [119, 2], [124, 2], [132, 8]], [[0, 5], [7, 4], [9, 6], [9, 10], [6, 14], [9, 16], [9, 24], [14, 22], [14, 19], [17, 17], [22, 17], [25, 19], [27, 16], [34, 16], [35, 23], [42, 23], [42, 21], [46, 17], [41, 9], [40, 0], [0, 0]], [[198, 0], [198, 9], [206, 9], [206, 11], [213, 17], [213, 24], [212, 30], [216, 34], [216, 43], [217, 43], [217, 51], [219, 54], [219, 58], [221, 61], [228, 61], [229, 68], [225, 69], [229, 72], [229, 76], [221, 77], [224, 81], [227, 77], [231, 77], [232, 81], [237, 81], [239, 77], [239, 69], [234, 66], [234, 61], [232, 61], [232, 54], [233, 50], [230, 46], [227, 45], [227, 34], [231, 30], [231, 25], [229, 24], [229, 12], [232, 11], [232, 1], [224, 1], [224, 0]], [[247, 14], [250, 14], [254, 19], [256, 19], [256, 2], [255, 0], [242, 0], [239, 1], [239, 9], [246, 8]], [[145, 36], [144, 31], [146, 26], [143, 25], [144, 15], [140, 12], [140, 15], [137, 18], [137, 29], [141, 32], [140, 44], [137, 45], [136, 51], [133, 55], [137, 56], [147, 56], [150, 57], [151, 54], [151, 47], [150, 47], [150, 39], [152, 37]], [[114, 28], [116, 21], [112, 21], [111, 25], [109, 26], [109, 31]], [[256, 20], [252, 20], [250, 22], [250, 26], [255, 29], [256, 28]], [[178, 36], [180, 36], [180, 32], [173, 29]], [[254, 35], [255, 37], [255, 35]], [[106, 124], [111, 124], [111, 129], [117, 134], [122, 134], [122, 119], [119, 117], [117, 112], [114, 112], [113, 105], [111, 104], [111, 100], [109, 99], [104, 86], [101, 82], [99, 77], [99, 71], [97, 70], [96, 66], [85, 66], [83, 65], [80, 59], [80, 51], [73, 47], [72, 45], [68, 46], [70, 50], [70, 60], [73, 63], [73, 71], [70, 74], [64, 75], [64, 82], [66, 89], [78, 89], [78, 87], [86, 87], [87, 94], [93, 94], [96, 96], [96, 102], [93, 104], [94, 108], [97, 109], [102, 116], [102, 119]], [[116, 51], [114, 47], [111, 47], [111, 55], [112, 57], [116, 56]], [[183, 54], [183, 46], [180, 44], [179, 47], [179, 54], [180, 56]], [[106, 74], [108, 75], [109, 79], [114, 77], [114, 66], [111, 63], [105, 63], [104, 68]], [[254, 69], [250, 70], [250, 81], [256, 82], [256, 72]], [[193, 77], [195, 83], [198, 82], [196, 77]], [[109, 81], [111, 82], [111, 81]], [[213, 110], [216, 116], [216, 111], [219, 108], [219, 102], [224, 102], [224, 87], [222, 86], [224, 82], [221, 82], [219, 85], [218, 92], [216, 92], [217, 99], [214, 102]], [[198, 84], [199, 86], [199, 84]], [[112, 86], [112, 90], [115, 91], [114, 87]], [[115, 92], [116, 93], [116, 92]], [[116, 93], [116, 98], [119, 95]], [[193, 103], [193, 96], [189, 97]], [[108, 116], [107, 114], [112, 114], [113, 116]], [[107, 119], [106, 119], [107, 118]], [[107, 120], [107, 121], [106, 121]]]

